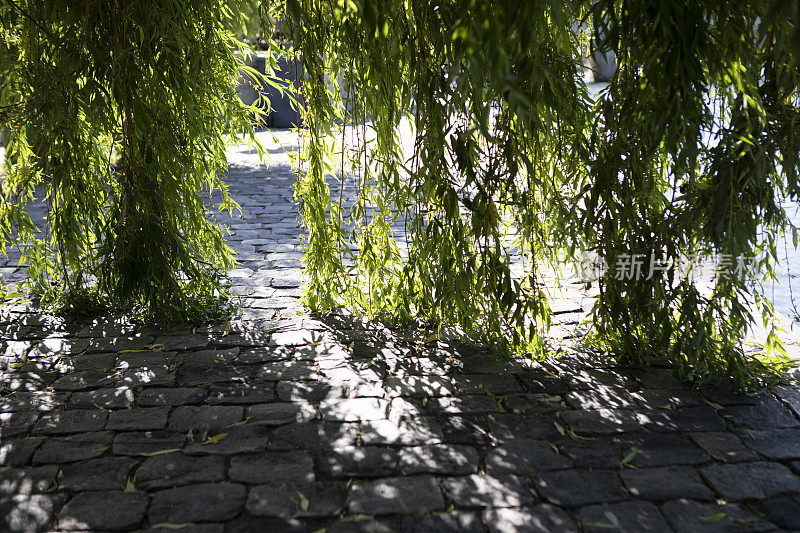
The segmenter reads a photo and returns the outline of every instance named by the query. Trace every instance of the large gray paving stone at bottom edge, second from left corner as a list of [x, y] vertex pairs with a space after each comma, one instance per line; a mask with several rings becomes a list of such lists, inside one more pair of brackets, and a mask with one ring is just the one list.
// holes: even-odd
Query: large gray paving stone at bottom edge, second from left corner
[[58, 527], [68, 531], [134, 529], [146, 511], [143, 492], [82, 492], [61, 509]]

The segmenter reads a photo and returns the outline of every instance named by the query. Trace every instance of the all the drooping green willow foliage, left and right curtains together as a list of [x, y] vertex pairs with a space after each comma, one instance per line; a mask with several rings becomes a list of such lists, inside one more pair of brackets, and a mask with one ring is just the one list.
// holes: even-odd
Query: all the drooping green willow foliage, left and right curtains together
[[[251, 6], [0, 0], [11, 134], [0, 230], [23, 243], [38, 292], [184, 318], [218, 302], [231, 256], [204, 199], [219, 191], [235, 207], [218, 171], [225, 132], [252, 134], [233, 37]], [[797, 3], [261, 8], [262, 36], [283, 21], [291, 42], [273, 52], [302, 63], [296, 194], [312, 309], [420, 317], [541, 353], [553, 265], [590, 252], [611, 266], [644, 258], [647, 273], [662, 259], [757, 256], [761, 279], [708, 287], [675, 268], [636, 279], [609, 269], [592, 337], [684, 377], [743, 384], [757, 370], [742, 348], [760, 320], [749, 304], [773, 323], [757, 282], [794, 231], [782, 201], [800, 196]], [[597, 98], [581, 78], [590, 42], [618, 62]], [[25, 211], [36, 195], [44, 237]]]

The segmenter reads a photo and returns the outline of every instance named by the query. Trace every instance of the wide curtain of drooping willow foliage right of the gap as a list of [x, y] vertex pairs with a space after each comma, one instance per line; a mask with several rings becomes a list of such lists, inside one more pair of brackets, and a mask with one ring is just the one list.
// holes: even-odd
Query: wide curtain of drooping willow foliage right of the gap
[[[297, 197], [313, 309], [417, 316], [539, 352], [542, 274], [589, 251], [645, 259], [636, 279], [599, 279], [592, 338], [615, 357], [743, 384], [758, 372], [743, 339], [762, 318], [782, 350], [759, 282], [794, 231], [781, 202], [800, 196], [796, 3], [262, 4], [305, 72]], [[590, 39], [618, 61], [597, 101], [580, 75]], [[354, 204], [331, 174], [356, 180]], [[675, 268], [648, 276], [696, 254], [758, 257], [758, 279], [716, 275], [703, 290]]]

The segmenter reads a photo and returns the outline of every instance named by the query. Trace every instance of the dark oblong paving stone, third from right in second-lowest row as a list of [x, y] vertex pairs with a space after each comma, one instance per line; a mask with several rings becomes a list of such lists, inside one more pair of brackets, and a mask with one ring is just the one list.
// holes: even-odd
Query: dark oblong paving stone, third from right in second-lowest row
[[617, 473], [610, 470], [541, 472], [534, 485], [542, 499], [563, 507], [614, 503], [627, 498]]

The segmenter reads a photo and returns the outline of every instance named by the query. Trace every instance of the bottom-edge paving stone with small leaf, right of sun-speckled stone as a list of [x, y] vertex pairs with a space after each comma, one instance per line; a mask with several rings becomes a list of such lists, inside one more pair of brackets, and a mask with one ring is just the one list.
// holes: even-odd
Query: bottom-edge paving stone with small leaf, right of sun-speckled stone
[[586, 533], [604, 533], [609, 529], [623, 533], [672, 532], [658, 507], [650, 502], [592, 505], [580, 509], [576, 518]]

